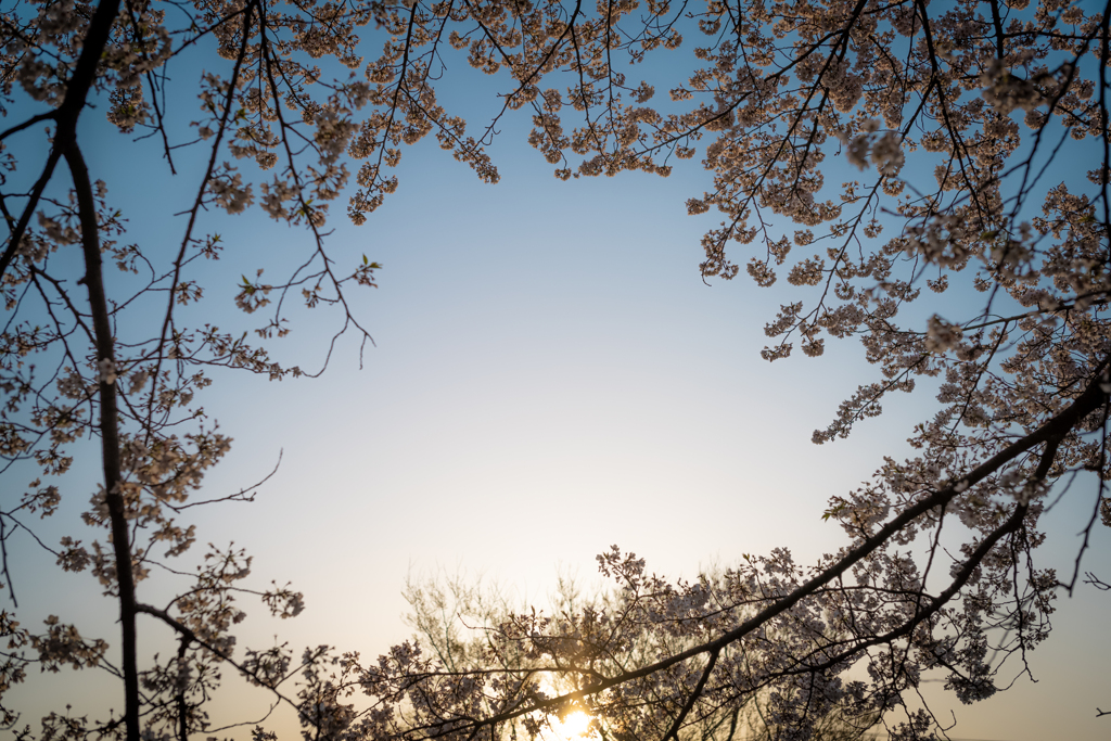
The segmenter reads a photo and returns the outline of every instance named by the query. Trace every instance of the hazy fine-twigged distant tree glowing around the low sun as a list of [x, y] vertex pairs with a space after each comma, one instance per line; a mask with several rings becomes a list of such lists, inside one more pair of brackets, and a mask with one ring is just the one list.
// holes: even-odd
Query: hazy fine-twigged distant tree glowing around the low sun
[[[733, 575], [732, 571], [709, 570], [700, 575], [701, 591], [725, 592]], [[668, 585], [658, 585], [662, 591], [652, 599], [674, 594]], [[585, 660], [590, 672], [597, 677], [620, 672], [630, 665], [645, 665], [657, 657], [681, 653], [700, 643], [699, 630], [687, 630], [682, 624], [661, 630], [659, 621], [645, 622], [633, 617], [642, 612], [643, 604], [637, 602], [644, 597], [643, 592], [634, 595], [628, 589], [619, 589], [583, 598], [573, 580], [560, 579], [551, 614], [538, 620], [531, 611], [514, 610], [498, 591], [482, 590], [458, 578], [410, 582], [406, 591], [411, 608], [408, 622], [417, 631], [414, 638], [438, 663], [456, 674], [488, 671], [492, 667], [530, 668], [530, 690], [537, 698], [581, 689], [557, 684], [569, 679], [565, 672], [551, 671], [551, 664], [546, 661], [557, 653], [561, 658], [578, 659], [577, 663]], [[721, 607], [738, 615], [745, 612], [742, 604]], [[614, 619], [615, 615], [624, 615], [624, 619]], [[551, 635], [548, 645], [527, 638], [536, 634], [538, 624], [542, 625], [543, 633]], [[619, 633], [620, 637], [609, 641], [609, 650], [595, 650], [601, 647], [597, 638], [605, 633]], [[569, 635], [577, 638], [567, 638]], [[824, 638], [831, 638], [829, 631]], [[765, 635], [763, 642], [774, 644], [778, 639]], [[553, 651], [557, 645], [561, 648]], [[757, 644], [734, 643], [722, 651], [722, 659], [754, 664], [763, 659], [762, 653]], [[774, 741], [791, 730], [778, 722], [777, 711], [782, 698], [777, 692], [783, 689], [773, 690], [769, 685], [752, 692], [735, 687], [719, 688], [712, 697], [700, 698], [697, 711], [691, 713], [690, 722], [678, 730], [678, 737], [684, 741]], [[662, 735], [670, 724], [675, 698], [645, 693], [630, 707], [628, 700], [634, 698], [637, 691], [634, 683], [624, 690], [621, 701], [610, 702], [604, 722], [592, 714], [597, 708], [590, 703], [570, 700], [549, 714], [526, 715], [502, 723], [497, 729], [497, 737], [508, 739], [520, 734], [559, 740], [572, 731], [595, 739]], [[619, 714], [611, 715], [610, 711]], [[577, 714], [579, 723], [574, 722]], [[419, 715], [414, 707], [409, 722], [419, 723]], [[861, 713], [859, 708], [849, 704], [834, 704], [815, 708], [810, 720], [814, 741], [857, 741], [867, 738], [865, 733], [879, 718], [875, 713]]]

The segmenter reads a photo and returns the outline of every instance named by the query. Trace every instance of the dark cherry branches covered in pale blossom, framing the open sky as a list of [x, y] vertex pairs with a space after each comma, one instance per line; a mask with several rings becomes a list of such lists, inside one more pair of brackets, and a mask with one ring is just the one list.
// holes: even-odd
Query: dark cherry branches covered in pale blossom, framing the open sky
[[[4, 488], [0, 543], [57, 510], [62, 492], [49, 482], [72, 445], [97, 438], [99, 485], [60, 484], [74, 490], [67, 498], [92, 490], [84, 521], [104, 534], [42, 547], [101, 581], [120, 635], [110, 659], [104, 639], [54, 619], [36, 632], [6, 610], [0, 691], [36, 663], [118, 678], [122, 714], [53, 714], [44, 739], [202, 733], [229, 667], [296, 705], [313, 739], [493, 738], [569, 703], [608, 737], [679, 739], [760, 698], [782, 739], [812, 738], [834, 710], [882, 717], [899, 739], [930, 738], [935, 719], [904, 700], [923, 672], [943, 673], [964, 702], [990, 697], [1000, 662], [1013, 657], [1023, 671], [1053, 599], [1077, 585], [1083, 549], [1071, 574], [1038, 567], [1051, 489], [1090, 498], [1085, 533], [1100, 518], [1111, 524], [1111, 9], [1098, 10], [1059, 0], [59, 0], [3, 10], [0, 94], [17, 122], [0, 132], [0, 454], [9, 475], [31, 465], [41, 475], [19, 499]], [[359, 54], [371, 41], [358, 33], [384, 43], [369, 63]], [[437, 99], [456, 53], [503, 86], [477, 136]], [[187, 81], [190, 69], [204, 71]], [[680, 69], [683, 80], [654, 103], [652, 80], [629, 77], [639, 69]], [[199, 113], [178, 110], [194, 96]], [[197, 538], [180, 512], [199, 503], [204, 471], [228, 449], [193, 404], [208, 369], [301, 374], [264, 350], [289, 331], [298, 297], [333, 308], [338, 334], [368, 339], [348, 291], [373, 286], [378, 266], [333, 259], [331, 202], [347, 196], [362, 223], [397, 187], [401, 144], [428, 134], [497, 181], [486, 148], [501, 117], [522, 108], [530, 143], [564, 180], [667, 176], [672, 158], [701, 153], [713, 189], [688, 210], [722, 214], [703, 238], [703, 279], [734, 278], [744, 262], [757, 284], [785, 273], [799, 290], [768, 323], [764, 358], [794, 343], [820, 356], [827, 336], [858, 337], [877, 366], [814, 441], [849, 434], [889, 392], [939, 379], [937, 414], [911, 438], [917, 457], [885, 458], [830, 502], [825, 515], [849, 540], [812, 568], [775, 551], [720, 579], [669, 584], [614, 550], [600, 557], [620, 587], [612, 607], [500, 623], [516, 653], [483, 654], [486, 665], [452, 670], [419, 643], [370, 665], [327, 650], [300, 663], [284, 648], [234, 653], [249, 557], [213, 549], [196, 574], [167, 570]], [[161, 143], [166, 182], [186, 158], [202, 163], [174, 249], [130, 243], [127, 219], [144, 214], [121, 212], [90, 172], [100, 110], [119, 129], [109, 140], [118, 158], [139, 134]], [[827, 176], [859, 179], [827, 187]], [[263, 317], [249, 342], [192, 322], [206, 306], [198, 261], [223, 249], [208, 211], [256, 207], [303, 229], [306, 251], [282, 280], [241, 278], [239, 308]], [[118, 280], [106, 280], [106, 257]], [[187, 324], [181, 307], [194, 303]], [[961, 533], [959, 551], [940, 548], [943, 528]], [[17, 567], [4, 551], [13, 604]], [[182, 582], [162, 607], [141, 599], [156, 575]], [[254, 593], [274, 614], [301, 609], [289, 588]], [[174, 632], [172, 657], [141, 651], [140, 617]], [[551, 697], [538, 667], [551, 687], [573, 689]], [[867, 678], [845, 678], [854, 667]], [[356, 690], [362, 704], [351, 704]], [[890, 720], [900, 708], [903, 719]], [[3, 712], [17, 722], [14, 709]]]

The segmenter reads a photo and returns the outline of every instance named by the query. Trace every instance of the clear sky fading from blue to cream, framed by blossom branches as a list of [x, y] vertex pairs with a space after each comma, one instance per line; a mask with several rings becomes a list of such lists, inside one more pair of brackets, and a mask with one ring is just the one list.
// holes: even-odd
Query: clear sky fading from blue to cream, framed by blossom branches
[[[308, 605], [284, 622], [248, 607], [242, 643], [264, 644], [277, 632], [294, 647], [328, 643], [372, 658], [411, 633], [401, 619], [409, 579], [462, 574], [543, 602], [561, 573], [597, 587], [594, 555], [611, 544], [672, 578], [775, 547], [812, 562], [844, 542], [821, 520], [827, 500], [867, 479], [884, 455], [909, 454], [905, 438], [931, 415], [935, 402], [922, 384], [850, 439], [813, 445], [812, 431], [879, 374], [848, 340], [828, 342], [818, 359], [760, 359], [764, 323], [794, 292], [759, 289], [743, 276], [702, 281], [699, 239], [715, 221], [687, 216], [685, 199], [710, 184], [698, 161], [668, 179], [564, 183], [524, 142], [520, 121], [503, 129], [492, 150], [499, 184], [482, 184], [422, 143], [406, 151], [401, 187], [366, 226], [333, 218], [337, 256], [383, 266], [379, 287], [354, 303], [374, 338], [361, 369], [358, 342], [348, 339], [320, 379], [227, 372], [200, 398], [234, 439], [207, 495], [254, 483], [281, 457], [257, 501], [197, 515], [201, 543], [234, 541], [254, 555], [257, 585], [289, 580]], [[119, 134], [94, 127], [89, 137], [90, 167], [106, 173], [133, 234], [157, 249], [172, 244], [196, 163], [182, 164], [188, 187], [156, 189], [142, 174], [160, 167], [154, 142], [121, 163]], [[266, 267], [277, 278], [304, 236], [257, 213], [212, 223], [229, 248], [203, 268], [214, 307], [207, 320], [238, 328], [240, 274]], [[293, 317], [276, 354], [319, 366], [337, 318]], [[96, 463], [86, 447], [71, 480], [94, 481]], [[60, 517], [81, 509], [82, 487], [76, 483]], [[1090, 493], [1047, 515], [1045, 563], [1071, 569]], [[1104, 577], [1108, 535], [1095, 530], [1084, 562]], [[58, 575], [30, 543], [20, 545], [26, 622], [80, 605], [112, 634], [110, 612], [93, 607], [103, 604], [93, 580]], [[159, 587], [141, 588], [157, 603]], [[1107, 739], [1111, 719], [1094, 715], [1111, 705], [1109, 600], [1085, 587], [1059, 600], [1053, 634], [1030, 659], [1037, 684], [1020, 679], [962, 707], [928, 683], [935, 708], [959, 723], [951, 735]], [[161, 640], [158, 628], [143, 630]], [[62, 693], [79, 710], [106, 701], [106, 687], [81, 677], [49, 687], [22, 690], [27, 707]], [[263, 712], [266, 699], [236, 694], [218, 707], [244, 709]]]

